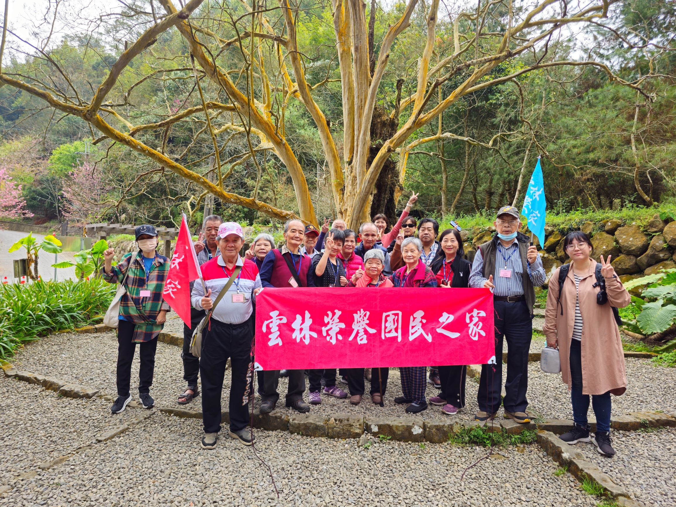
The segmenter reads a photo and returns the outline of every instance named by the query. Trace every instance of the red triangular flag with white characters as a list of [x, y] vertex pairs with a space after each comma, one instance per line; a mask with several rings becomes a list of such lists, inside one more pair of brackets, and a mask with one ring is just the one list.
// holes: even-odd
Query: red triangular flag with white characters
[[162, 295], [187, 327], [190, 327], [190, 283], [201, 277], [195, 246], [184, 214]]

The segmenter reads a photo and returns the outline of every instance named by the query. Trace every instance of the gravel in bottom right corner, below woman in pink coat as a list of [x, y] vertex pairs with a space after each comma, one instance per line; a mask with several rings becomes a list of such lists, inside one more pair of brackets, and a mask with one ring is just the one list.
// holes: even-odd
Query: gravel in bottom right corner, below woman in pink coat
[[676, 429], [650, 433], [613, 431], [615, 456], [604, 458], [594, 443], [577, 444], [588, 460], [595, 462], [614, 481], [646, 506], [676, 505]]

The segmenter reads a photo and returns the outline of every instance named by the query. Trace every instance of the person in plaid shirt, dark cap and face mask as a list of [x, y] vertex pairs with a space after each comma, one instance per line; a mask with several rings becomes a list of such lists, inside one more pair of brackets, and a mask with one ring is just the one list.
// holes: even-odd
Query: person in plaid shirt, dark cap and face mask
[[[129, 392], [131, 364], [136, 344], [139, 343], [139, 397], [143, 408], [152, 408], [155, 401], [150, 395], [155, 371], [155, 350], [158, 335], [166, 322], [169, 305], [162, 299], [162, 290], [169, 272], [168, 258], [155, 251], [158, 233], [151, 225], [140, 225], [135, 230], [139, 251], [125, 254], [117, 266], [112, 266], [115, 252], [103, 252], [103, 279], [108, 283], [122, 283], [126, 294], [120, 299], [118, 324], [118, 398], [111, 408], [118, 414], [131, 401]], [[124, 277], [126, 276], [126, 281]]]

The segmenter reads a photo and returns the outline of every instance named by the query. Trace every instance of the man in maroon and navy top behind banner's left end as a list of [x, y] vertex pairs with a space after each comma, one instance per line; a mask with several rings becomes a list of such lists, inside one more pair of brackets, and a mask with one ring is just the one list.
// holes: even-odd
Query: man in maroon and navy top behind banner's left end
[[[263, 287], [314, 287], [314, 277], [308, 275], [312, 268], [312, 258], [301, 254], [305, 226], [300, 220], [287, 220], [284, 224], [285, 245], [268, 252], [260, 267], [260, 280]], [[287, 407], [298, 412], [310, 412], [310, 405], [303, 401], [305, 392], [304, 370], [289, 371], [289, 389], [287, 389]], [[279, 400], [277, 386], [279, 370], [263, 373], [263, 393], [260, 411], [268, 414], [274, 410]]]

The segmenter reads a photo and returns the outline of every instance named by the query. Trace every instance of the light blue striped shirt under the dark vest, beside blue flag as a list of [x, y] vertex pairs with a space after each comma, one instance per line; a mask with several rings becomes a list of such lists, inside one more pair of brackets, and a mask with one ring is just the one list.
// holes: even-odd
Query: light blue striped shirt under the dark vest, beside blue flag
[[[506, 266], [506, 267], [505, 267]], [[511, 270], [512, 276], [500, 276], [500, 270]], [[542, 259], [539, 254], [535, 262], [531, 264], [531, 272], [529, 273], [531, 282], [534, 287], [539, 287], [545, 283], [547, 274], [545, 268], [542, 267]], [[521, 256], [518, 254], [518, 241], [514, 239], [514, 243], [505, 248], [502, 243], [498, 243], [496, 249], [496, 272], [493, 273], [493, 294], [496, 296], [516, 296], [523, 295], [523, 264]], [[469, 274], [470, 287], [483, 287], [486, 279], [483, 277], [483, 255], [481, 250], [477, 250], [472, 264], [472, 271]]]

